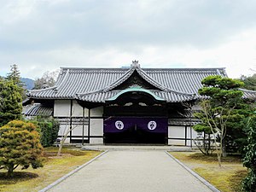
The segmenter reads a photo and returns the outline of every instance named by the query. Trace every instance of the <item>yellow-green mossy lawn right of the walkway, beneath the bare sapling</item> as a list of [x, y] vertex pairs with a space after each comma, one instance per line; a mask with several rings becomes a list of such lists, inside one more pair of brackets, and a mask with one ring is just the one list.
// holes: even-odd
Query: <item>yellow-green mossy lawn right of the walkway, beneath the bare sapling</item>
[[240, 191], [241, 179], [247, 174], [247, 169], [242, 166], [239, 156], [223, 158], [222, 167], [219, 168], [216, 154], [210, 156], [195, 152], [171, 152], [170, 154], [222, 192]]

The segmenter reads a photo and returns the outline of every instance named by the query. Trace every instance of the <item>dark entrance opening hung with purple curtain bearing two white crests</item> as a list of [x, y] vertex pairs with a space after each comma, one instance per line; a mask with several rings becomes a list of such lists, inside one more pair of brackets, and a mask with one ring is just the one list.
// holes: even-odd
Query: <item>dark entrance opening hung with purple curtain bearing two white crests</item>
[[166, 118], [115, 117], [104, 122], [104, 143], [166, 144], [166, 136]]

